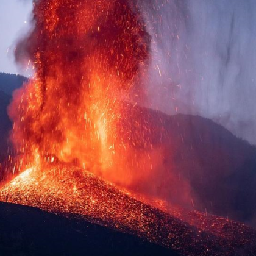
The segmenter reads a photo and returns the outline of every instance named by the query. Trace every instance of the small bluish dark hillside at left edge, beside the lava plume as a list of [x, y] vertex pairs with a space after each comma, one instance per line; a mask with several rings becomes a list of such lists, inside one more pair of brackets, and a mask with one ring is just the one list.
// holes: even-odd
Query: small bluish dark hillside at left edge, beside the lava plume
[[26, 81], [27, 78], [24, 76], [0, 73], [0, 90], [11, 96], [13, 91], [20, 88]]

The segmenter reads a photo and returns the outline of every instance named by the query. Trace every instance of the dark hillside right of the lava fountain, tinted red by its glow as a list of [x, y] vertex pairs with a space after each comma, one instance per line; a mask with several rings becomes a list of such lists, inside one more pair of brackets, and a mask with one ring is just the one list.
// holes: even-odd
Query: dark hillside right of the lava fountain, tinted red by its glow
[[138, 182], [138, 190], [254, 225], [255, 146], [201, 116], [168, 116], [144, 108], [133, 108], [129, 115], [132, 122], [127, 118], [123, 125], [132, 126], [133, 134], [127, 137], [150, 138], [143, 150], [150, 152], [152, 144], [162, 157], [161, 171]]

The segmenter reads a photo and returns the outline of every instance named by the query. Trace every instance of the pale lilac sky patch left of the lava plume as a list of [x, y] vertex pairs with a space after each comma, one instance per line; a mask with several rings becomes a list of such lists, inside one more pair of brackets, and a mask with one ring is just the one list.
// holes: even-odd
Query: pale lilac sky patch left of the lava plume
[[0, 72], [18, 72], [13, 61], [13, 50], [16, 39], [29, 29], [26, 21], [29, 21], [31, 9], [32, 1], [0, 0]]

